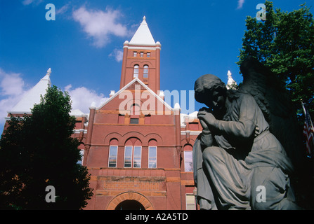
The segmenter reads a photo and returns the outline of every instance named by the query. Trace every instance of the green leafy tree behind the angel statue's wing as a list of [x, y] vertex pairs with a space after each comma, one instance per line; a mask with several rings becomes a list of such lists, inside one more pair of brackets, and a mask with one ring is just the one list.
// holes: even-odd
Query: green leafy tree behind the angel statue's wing
[[314, 20], [305, 4], [299, 10], [274, 10], [266, 1], [266, 20], [247, 17], [238, 65], [252, 56], [268, 66], [282, 80], [297, 109], [300, 124], [304, 116], [301, 99], [313, 116]]

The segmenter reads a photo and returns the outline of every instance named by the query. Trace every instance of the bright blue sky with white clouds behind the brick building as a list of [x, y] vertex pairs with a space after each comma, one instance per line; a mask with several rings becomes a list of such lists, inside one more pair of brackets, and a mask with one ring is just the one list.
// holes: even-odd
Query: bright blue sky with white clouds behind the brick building
[[[274, 0], [275, 8], [298, 9], [305, 0]], [[193, 90], [195, 80], [213, 73], [240, 83], [238, 61], [245, 19], [261, 0], [0, 0], [0, 129], [25, 91], [51, 68], [51, 82], [67, 90], [73, 108], [88, 113], [119, 90], [121, 52], [145, 15], [162, 44], [161, 90]], [[46, 20], [46, 5], [55, 20]], [[306, 6], [313, 6], [307, 0]], [[313, 13], [313, 8], [311, 9]], [[102, 21], [102, 22], [98, 22]], [[199, 109], [195, 103], [195, 110]]]

